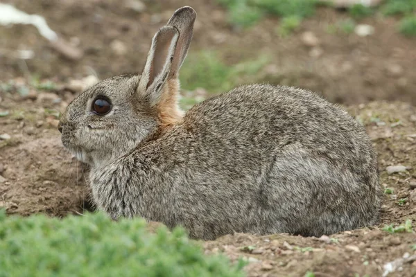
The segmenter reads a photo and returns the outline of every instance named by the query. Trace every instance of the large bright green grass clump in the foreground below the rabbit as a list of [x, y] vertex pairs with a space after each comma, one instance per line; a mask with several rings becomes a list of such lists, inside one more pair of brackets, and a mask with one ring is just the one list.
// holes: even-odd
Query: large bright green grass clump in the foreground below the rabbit
[[243, 262], [205, 256], [182, 229], [87, 214], [63, 220], [0, 211], [0, 276], [244, 276]]

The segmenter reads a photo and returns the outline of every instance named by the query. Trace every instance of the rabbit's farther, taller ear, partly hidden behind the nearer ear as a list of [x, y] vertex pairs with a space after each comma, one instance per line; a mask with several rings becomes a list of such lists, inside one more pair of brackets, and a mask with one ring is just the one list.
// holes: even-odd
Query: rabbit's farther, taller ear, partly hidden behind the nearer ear
[[173, 13], [171, 19], [168, 21], [168, 26], [173, 26], [179, 31], [179, 39], [177, 40], [177, 46], [175, 55], [173, 56], [171, 77], [177, 77], [180, 66], [187, 57], [189, 44], [191, 44], [193, 34], [193, 24], [196, 19], [196, 11], [191, 7], [179, 8]]

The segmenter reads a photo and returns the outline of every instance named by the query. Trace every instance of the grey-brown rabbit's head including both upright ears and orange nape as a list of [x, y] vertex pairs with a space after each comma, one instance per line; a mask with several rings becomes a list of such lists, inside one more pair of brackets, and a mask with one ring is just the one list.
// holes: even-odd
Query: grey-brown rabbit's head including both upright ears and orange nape
[[62, 143], [76, 158], [98, 166], [128, 154], [160, 128], [175, 124], [178, 71], [192, 39], [196, 12], [175, 11], [153, 37], [141, 75], [120, 75], [80, 94], [60, 118]]

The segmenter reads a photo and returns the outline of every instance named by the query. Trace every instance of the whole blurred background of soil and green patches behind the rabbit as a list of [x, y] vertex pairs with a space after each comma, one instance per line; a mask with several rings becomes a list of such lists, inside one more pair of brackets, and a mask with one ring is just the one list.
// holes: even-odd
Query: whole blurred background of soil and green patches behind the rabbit
[[[81, 80], [94, 83], [140, 72], [155, 32], [175, 9], [192, 6], [198, 17], [180, 73], [185, 108], [250, 82], [311, 89], [346, 105], [371, 100], [416, 104], [415, 0], [3, 3], [40, 15], [58, 37], [50, 41], [28, 24], [3, 20], [0, 25], [1, 89], [17, 86], [27, 97], [33, 92], [19, 83], [77, 93]], [[64, 100], [71, 97], [67, 93]]]

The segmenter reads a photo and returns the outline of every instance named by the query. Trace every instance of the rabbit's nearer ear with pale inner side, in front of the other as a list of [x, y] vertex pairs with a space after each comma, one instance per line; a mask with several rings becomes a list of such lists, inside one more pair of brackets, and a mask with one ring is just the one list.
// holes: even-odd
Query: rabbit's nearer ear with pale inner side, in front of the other
[[[171, 67], [179, 32], [173, 26], [164, 26], [153, 37], [144, 71], [141, 74], [138, 92], [144, 93], [150, 106], [162, 98], [166, 80], [171, 76]], [[143, 96], [143, 95], [142, 95]]]

